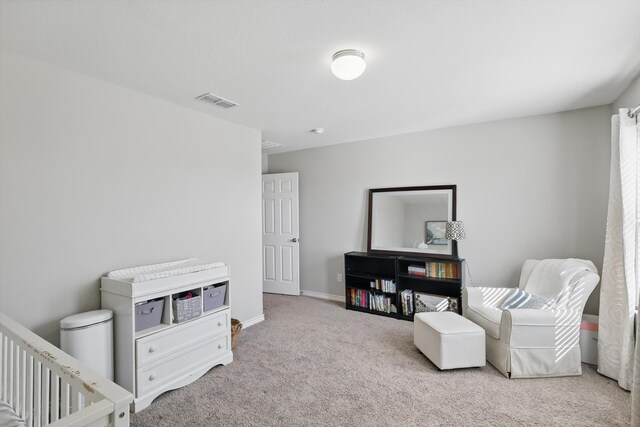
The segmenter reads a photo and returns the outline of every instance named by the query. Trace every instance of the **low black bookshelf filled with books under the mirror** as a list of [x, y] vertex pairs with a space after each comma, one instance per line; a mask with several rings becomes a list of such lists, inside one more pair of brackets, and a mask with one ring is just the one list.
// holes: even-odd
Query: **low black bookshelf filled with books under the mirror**
[[411, 321], [416, 309], [462, 314], [462, 263], [459, 258], [348, 252], [346, 308]]

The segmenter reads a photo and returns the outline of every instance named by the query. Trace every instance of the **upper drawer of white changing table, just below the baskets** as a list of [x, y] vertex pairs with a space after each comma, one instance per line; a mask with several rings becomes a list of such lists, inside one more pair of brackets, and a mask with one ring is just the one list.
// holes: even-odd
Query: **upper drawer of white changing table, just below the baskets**
[[136, 366], [142, 367], [218, 335], [228, 334], [229, 310], [204, 316], [136, 340]]

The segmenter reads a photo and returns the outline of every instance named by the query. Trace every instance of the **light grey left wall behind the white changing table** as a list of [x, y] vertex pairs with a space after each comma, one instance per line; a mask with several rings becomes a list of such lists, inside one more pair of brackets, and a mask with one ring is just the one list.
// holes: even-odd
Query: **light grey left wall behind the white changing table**
[[105, 272], [199, 257], [231, 265], [234, 317], [262, 315], [259, 131], [0, 64], [0, 310], [57, 343], [61, 318], [100, 307]]

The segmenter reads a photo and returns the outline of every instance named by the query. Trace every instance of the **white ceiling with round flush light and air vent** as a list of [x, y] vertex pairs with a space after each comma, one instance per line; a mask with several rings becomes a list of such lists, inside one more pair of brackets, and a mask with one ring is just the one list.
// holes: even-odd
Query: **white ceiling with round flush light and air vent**
[[[280, 152], [609, 104], [640, 72], [640, 0], [0, 0], [0, 46], [260, 129]], [[348, 48], [368, 63], [354, 81], [329, 70]]]

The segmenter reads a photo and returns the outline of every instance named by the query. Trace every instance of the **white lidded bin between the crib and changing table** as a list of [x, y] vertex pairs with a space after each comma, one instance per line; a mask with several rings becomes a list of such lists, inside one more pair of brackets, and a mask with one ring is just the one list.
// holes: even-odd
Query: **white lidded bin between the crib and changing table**
[[113, 312], [94, 310], [62, 319], [60, 348], [113, 381]]

